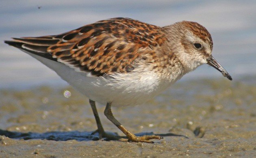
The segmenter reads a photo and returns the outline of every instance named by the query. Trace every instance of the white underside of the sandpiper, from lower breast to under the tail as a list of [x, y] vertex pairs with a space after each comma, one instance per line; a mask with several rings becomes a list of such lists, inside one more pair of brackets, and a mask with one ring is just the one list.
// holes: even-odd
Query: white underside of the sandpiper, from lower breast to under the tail
[[152, 71], [117, 74], [109, 79], [87, 77], [87, 73], [78, 73], [59, 62], [28, 54], [54, 70], [76, 90], [103, 105], [107, 102], [112, 102], [113, 106], [139, 105], [152, 99], [174, 82], [161, 79]]

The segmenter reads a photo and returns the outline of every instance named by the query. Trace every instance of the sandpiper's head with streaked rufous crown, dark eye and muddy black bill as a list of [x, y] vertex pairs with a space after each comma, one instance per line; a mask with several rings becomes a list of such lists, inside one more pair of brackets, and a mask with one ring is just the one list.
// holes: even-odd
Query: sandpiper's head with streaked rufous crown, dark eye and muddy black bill
[[187, 72], [202, 64], [219, 70], [224, 77], [232, 80], [228, 72], [213, 58], [213, 41], [210, 33], [196, 22], [181, 21], [164, 27], [169, 39], [169, 48], [179, 58]]

